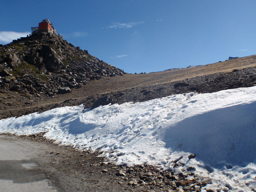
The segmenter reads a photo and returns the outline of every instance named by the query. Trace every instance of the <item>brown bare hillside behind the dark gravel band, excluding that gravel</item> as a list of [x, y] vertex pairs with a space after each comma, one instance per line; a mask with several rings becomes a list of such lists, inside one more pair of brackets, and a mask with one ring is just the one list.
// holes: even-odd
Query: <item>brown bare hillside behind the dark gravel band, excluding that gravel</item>
[[[205, 76], [208, 74], [215, 74], [213, 80], [216, 80], [217, 77], [219, 77], [221, 80], [223, 74], [231, 72], [228, 74], [228, 78], [233, 77], [233, 84], [234, 82], [235, 83], [237, 82], [237, 85], [233, 85], [232, 87], [234, 88], [241, 87], [241, 86], [250, 87], [254, 85], [254, 82], [253, 82], [255, 77], [254, 72], [250, 73], [249, 84], [248, 84], [248, 80], [243, 82], [243, 84], [241, 84], [239, 82], [241, 81], [241, 79], [239, 80], [237, 77], [239, 76], [239, 73], [236, 74], [236, 76], [233, 76], [232, 72], [233, 70], [237, 71], [245, 68], [254, 69], [255, 67], [256, 67], [256, 55], [252, 55], [252, 56], [242, 57], [242, 58], [233, 59], [229, 61], [212, 63], [208, 65], [201, 65], [195, 68], [186, 68], [181, 70], [156, 72], [156, 73], [150, 73], [150, 74], [125, 74], [123, 76], [107, 77], [100, 80], [90, 81], [88, 82], [87, 85], [83, 85], [79, 89], [72, 89], [71, 93], [66, 93], [63, 95], [55, 95], [55, 97], [42, 96], [39, 98], [35, 97], [33, 99], [28, 99], [28, 98], [21, 97], [20, 95], [17, 94], [17, 92], [9, 91], [8, 93], [0, 93], [1, 94], [0, 118], [6, 118], [10, 116], [20, 116], [22, 114], [27, 114], [27, 113], [36, 112], [36, 111], [44, 111], [50, 108], [55, 108], [55, 107], [64, 106], [64, 105], [78, 105], [78, 104], [85, 103], [85, 101], [88, 100], [88, 96], [95, 96], [103, 93], [127, 90], [127, 92], [125, 92], [125, 94], [127, 94], [128, 92], [129, 93], [131, 92], [128, 90], [131, 88], [144, 87], [143, 90], [145, 90], [145, 89], [150, 89], [153, 86], [164, 86], [165, 89], [171, 89], [171, 87], [173, 87], [173, 84], [171, 83], [173, 82], [182, 82], [186, 79], [187, 80], [194, 79], [195, 77]], [[245, 76], [248, 76], [248, 74], [243, 73], [243, 77], [241, 78], [245, 78]], [[229, 79], [224, 80], [225, 84], [228, 84], [228, 80]], [[214, 84], [218, 84], [218, 83], [220, 82], [212, 82], [212, 84], [211, 85], [209, 84], [209, 86], [213, 86]], [[206, 85], [207, 85], [207, 82], [206, 82]], [[203, 86], [206, 86], [206, 85], [204, 84]], [[166, 86], [169, 86], [169, 87], [166, 87]], [[227, 87], [220, 86], [212, 91], [219, 91], [218, 89], [220, 90], [228, 89], [228, 86]], [[152, 89], [151, 91], [155, 91], [155, 90], [156, 89]], [[207, 92], [207, 90], [203, 92]], [[163, 95], [158, 94], [157, 97], [161, 97], [161, 96], [164, 97], [168, 93], [174, 94], [179, 92], [169, 91]], [[92, 97], [91, 100], [97, 99], [97, 97]], [[148, 97], [148, 99], [153, 99], [153, 98], [154, 97]]]

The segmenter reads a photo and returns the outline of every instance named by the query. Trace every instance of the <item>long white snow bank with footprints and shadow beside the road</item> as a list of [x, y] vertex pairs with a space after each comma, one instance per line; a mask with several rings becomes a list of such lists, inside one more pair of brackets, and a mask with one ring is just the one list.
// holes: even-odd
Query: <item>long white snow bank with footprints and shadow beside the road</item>
[[[256, 87], [84, 111], [82, 105], [56, 108], [0, 120], [0, 133], [7, 132], [47, 132], [59, 144], [102, 150], [117, 164], [148, 163], [176, 173], [192, 166], [195, 175], [212, 179], [206, 188], [256, 189]], [[184, 167], [173, 168], [182, 156]]]

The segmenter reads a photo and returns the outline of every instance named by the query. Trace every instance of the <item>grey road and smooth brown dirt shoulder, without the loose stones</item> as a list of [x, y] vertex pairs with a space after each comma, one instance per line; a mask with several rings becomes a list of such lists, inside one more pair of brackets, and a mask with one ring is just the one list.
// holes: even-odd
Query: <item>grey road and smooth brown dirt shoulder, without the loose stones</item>
[[[90, 160], [84, 162], [88, 158]], [[101, 160], [95, 154], [46, 141], [0, 135], [0, 191], [125, 190], [118, 184], [118, 178], [98, 169]]]

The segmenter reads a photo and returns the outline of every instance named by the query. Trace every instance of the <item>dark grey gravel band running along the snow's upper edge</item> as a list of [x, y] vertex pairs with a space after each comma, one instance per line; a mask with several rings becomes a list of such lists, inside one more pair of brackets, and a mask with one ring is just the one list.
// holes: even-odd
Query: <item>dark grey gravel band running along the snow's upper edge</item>
[[256, 68], [233, 70], [229, 73], [208, 74], [186, 80], [157, 84], [147, 87], [135, 87], [88, 97], [85, 109], [96, 108], [109, 103], [143, 102], [182, 93], [213, 93], [226, 89], [256, 86]]

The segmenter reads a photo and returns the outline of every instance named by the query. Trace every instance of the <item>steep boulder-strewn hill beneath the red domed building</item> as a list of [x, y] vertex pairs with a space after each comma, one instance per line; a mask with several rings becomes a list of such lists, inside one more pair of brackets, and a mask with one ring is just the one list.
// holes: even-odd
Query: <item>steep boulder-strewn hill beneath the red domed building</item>
[[52, 33], [38, 32], [0, 44], [1, 93], [10, 90], [24, 97], [52, 97], [90, 80], [123, 74]]

